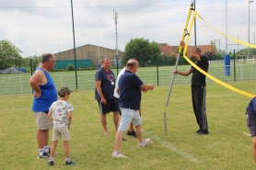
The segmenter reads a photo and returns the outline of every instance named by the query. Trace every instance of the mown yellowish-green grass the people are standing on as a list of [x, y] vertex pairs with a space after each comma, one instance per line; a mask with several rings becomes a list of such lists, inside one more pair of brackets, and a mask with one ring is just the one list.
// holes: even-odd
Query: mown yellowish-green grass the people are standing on
[[[188, 78], [190, 79], [190, 78]], [[71, 159], [64, 165], [64, 147], [59, 142], [51, 169], [255, 169], [250, 133], [244, 114], [250, 98], [215, 83], [207, 85], [206, 110], [209, 135], [200, 136], [192, 112], [190, 85], [156, 86], [143, 94], [144, 137], [153, 141], [141, 149], [137, 139], [124, 136], [121, 152], [126, 159], [112, 158], [115, 131], [108, 115], [110, 135], [102, 135], [99, 108], [93, 90], [71, 94], [75, 111], [71, 126]], [[49, 169], [48, 160], [38, 160], [36, 122], [30, 109], [32, 95], [6, 95], [0, 99], [0, 169]], [[163, 113], [167, 113], [168, 135]], [[52, 136], [52, 130], [50, 131]]]

